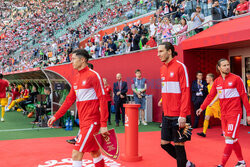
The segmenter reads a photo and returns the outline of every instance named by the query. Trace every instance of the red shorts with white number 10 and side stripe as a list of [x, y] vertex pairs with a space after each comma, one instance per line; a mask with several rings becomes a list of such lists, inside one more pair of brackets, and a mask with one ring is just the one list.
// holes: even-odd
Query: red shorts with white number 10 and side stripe
[[221, 126], [225, 136], [233, 139], [239, 137], [241, 116], [241, 114], [234, 116], [221, 116]]

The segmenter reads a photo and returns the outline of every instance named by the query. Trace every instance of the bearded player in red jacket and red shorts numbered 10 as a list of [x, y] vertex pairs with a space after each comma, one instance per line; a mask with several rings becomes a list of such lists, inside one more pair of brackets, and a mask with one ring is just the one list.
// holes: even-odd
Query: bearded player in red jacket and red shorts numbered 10
[[242, 117], [241, 102], [243, 102], [246, 108], [247, 122], [250, 124], [250, 105], [248, 103], [247, 92], [242, 79], [230, 73], [230, 64], [228, 60], [219, 60], [217, 69], [220, 71], [221, 76], [214, 81], [209, 95], [201, 105], [201, 108], [197, 110], [197, 115], [201, 114], [218, 94], [221, 106], [221, 126], [226, 140], [222, 163], [218, 165], [218, 167], [226, 165], [232, 150], [234, 150], [239, 160], [236, 167], [245, 167], [246, 163], [243, 160], [238, 137], [239, 125]]

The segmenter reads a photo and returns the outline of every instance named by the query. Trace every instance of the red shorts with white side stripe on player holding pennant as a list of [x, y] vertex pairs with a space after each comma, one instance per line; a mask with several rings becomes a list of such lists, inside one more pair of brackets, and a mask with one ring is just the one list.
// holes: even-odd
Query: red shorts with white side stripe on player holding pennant
[[94, 138], [94, 134], [97, 134], [99, 130], [100, 124], [97, 124], [96, 122], [90, 126], [82, 127], [79, 131], [74, 149], [79, 152], [92, 152], [99, 150], [99, 146]]

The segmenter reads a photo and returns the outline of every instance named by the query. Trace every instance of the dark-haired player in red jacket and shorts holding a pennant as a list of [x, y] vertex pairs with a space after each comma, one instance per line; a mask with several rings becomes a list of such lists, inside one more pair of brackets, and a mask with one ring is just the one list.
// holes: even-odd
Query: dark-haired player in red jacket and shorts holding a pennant
[[82, 166], [82, 157], [85, 152], [91, 153], [95, 167], [104, 167], [104, 159], [93, 135], [99, 130], [104, 137], [108, 135], [108, 103], [102, 78], [97, 72], [88, 68], [88, 59], [89, 54], [84, 49], [78, 49], [72, 53], [72, 65], [78, 70], [78, 74], [74, 77], [72, 88], [65, 102], [49, 119], [48, 124], [51, 126], [54, 121], [62, 117], [76, 101], [80, 133], [72, 152], [73, 167]]

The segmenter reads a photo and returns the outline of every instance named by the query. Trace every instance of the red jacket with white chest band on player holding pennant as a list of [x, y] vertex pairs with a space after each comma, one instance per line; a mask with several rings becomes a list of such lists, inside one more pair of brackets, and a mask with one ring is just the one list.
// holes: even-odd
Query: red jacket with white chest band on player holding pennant
[[62, 117], [76, 101], [80, 128], [97, 122], [101, 127], [107, 126], [108, 103], [105, 97], [103, 81], [94, 70], [85, 67], [74, 77], [71, 90], [63, 105], [54, 117]]

